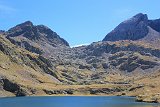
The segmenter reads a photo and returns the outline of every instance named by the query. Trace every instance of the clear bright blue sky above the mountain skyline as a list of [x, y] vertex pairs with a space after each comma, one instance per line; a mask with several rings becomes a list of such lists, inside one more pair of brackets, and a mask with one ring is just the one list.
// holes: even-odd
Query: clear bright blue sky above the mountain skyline
[[159, 4], [160, 0], [0, 0], [0, 29], [30, 20], [78, 46], [101, 41], [137, 13], [160, 18]]

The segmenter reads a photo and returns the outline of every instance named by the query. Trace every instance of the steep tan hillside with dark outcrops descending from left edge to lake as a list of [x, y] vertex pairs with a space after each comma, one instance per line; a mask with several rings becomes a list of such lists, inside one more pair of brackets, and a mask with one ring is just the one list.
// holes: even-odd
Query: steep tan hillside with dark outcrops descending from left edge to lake
[[60, 84], [51, 66], [44, 57], [16, 47], [0, 35], [0, 96], [42, 94], [49, 84]]

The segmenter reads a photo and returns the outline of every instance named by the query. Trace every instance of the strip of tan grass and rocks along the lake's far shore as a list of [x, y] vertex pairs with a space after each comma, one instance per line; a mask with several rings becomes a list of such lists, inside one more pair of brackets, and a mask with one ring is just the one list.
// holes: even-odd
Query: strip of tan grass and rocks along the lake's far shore
[[[49, 89], [36, 87], [36, 90], [18, 90], [0, 97], [20, 96], [126, 96], [135, 97], [135, 102], [160, 103], [158, 93], [137, 91], [141, 85], [135, 84], [92, 84], [92, 85], [52, 85]], [[144, 88], [144, 86], [142, 87]], [[30, 92], [30, 93], [29, 93]], [[3, 92], [2, 92], [3, 93]], [[147, 94], [145, 94], [147, 93]]]

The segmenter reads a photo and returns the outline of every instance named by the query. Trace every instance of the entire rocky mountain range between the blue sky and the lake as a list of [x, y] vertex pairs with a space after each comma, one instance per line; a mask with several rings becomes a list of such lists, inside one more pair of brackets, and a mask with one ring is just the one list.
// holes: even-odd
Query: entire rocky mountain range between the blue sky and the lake
[[160, 19], [142, 13], [102, 41], [73, 48], [47, 26], [26, 21], [0, 30], [0, 96], [107, 94], [158, 102], [159, 46]]

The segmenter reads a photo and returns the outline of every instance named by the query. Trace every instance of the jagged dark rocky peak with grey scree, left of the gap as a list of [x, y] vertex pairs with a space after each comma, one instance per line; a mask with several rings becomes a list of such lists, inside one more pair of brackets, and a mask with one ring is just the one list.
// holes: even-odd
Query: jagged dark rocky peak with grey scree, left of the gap
[[69, 47], [68, 42], [56, 32], [44, 25], [35, 26], [30, 21], [9, 29], [6, 35], [13, 44], [35, 53], [46, 52], [46, 47]]

